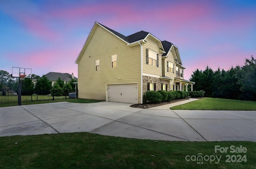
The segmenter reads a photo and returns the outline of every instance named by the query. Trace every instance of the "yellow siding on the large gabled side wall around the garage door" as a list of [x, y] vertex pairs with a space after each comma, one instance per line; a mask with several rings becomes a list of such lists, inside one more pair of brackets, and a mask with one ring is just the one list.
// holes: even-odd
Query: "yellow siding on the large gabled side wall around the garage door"
[[[112, 68], [115, 54], [117, 66]], [[96, 71], [96, 60], [100, 60], [99, 71]], [[140, 101], [140, 74], [140, 45], [129, 47], [97, 25], [78, 62], [78, 96], [106, 100], [106, 84], [138, 83]]]

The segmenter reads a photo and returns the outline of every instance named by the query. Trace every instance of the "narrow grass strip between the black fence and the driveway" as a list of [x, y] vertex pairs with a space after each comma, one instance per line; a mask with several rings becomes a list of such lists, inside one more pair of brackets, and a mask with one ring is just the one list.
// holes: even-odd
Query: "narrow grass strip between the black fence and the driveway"
[[[62, 102], [67, 101], [71, 103], [96, 103], [100, 102], [100, 100], [93, 100], [93, 99], [56, 99], [56, 100], [46, 100], [46, 101], [30, 101], [30, 102], [22, 102], [22, 105], [30, 105], [30, 104], [42, 104], [42, 103], [55, 103], [55, 102]], [[18, 103], [0, 103], [0, 107], [8, 107], [14, 106]]]

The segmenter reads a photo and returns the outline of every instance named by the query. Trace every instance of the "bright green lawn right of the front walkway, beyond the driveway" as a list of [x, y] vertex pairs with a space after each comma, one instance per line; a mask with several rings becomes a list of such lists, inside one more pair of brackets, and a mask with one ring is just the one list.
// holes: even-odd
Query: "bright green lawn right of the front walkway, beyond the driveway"
[[186, 104], [170, 107], [174, 110], [256, 110], [256, 101], [202, 98]]

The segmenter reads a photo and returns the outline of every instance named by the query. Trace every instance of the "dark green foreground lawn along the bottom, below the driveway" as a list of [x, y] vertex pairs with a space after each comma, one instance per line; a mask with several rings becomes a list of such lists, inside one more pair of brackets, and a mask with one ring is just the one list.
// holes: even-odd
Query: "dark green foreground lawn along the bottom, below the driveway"
[[[17, 143], [17, 144], [16, 144]], [[220, 147], [246, 147], [246, 153], [214, 152]], [[103, 136], [92, 133], [61, 133], [0, 137], [0, 168], [256, 168], [256, 144], [250, 141], [186, 142], [154, 141]], [[220, 162], [187, 161], [191, 156], [222, 156]], [[246, 155], [247, 161], [226, 162], [226, 155]], [[234, 161], [233, 157], [233, 161]], [[216, 162], [216, 163], [215, 163]]]

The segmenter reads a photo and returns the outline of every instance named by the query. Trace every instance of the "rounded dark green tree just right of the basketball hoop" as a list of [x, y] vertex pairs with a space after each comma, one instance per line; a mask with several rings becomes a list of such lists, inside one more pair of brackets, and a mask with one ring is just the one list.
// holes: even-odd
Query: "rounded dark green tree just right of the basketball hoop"
[[45, 75], [43, 75], [41, 78], [39, 78], [36, 81], [35, 91], [39, 95], [50, 94], [51, 88], [52, 88], [52, 82], [50, 82], [50, 80], [48, 80], [48, 78]]

